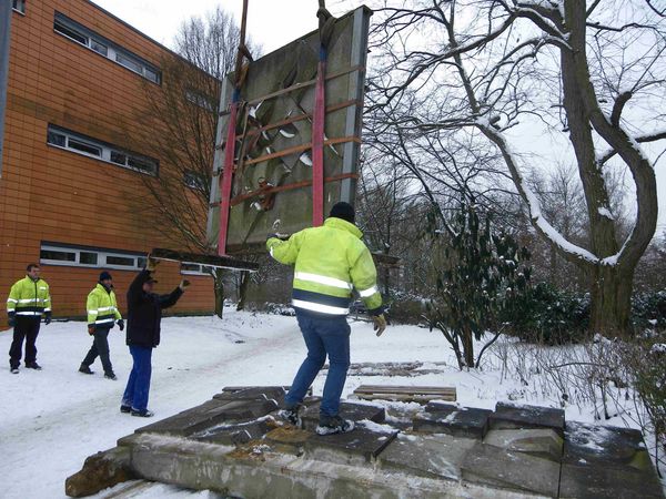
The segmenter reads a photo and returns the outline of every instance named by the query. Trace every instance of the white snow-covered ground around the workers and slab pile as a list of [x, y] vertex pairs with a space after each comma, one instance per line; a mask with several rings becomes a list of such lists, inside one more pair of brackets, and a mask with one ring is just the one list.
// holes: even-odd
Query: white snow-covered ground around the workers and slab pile
[[[120, 414], [120, 397], [131, 368], [124, 334], [109, 336], [118, 381], [77, 371], [90, 347], [83, 323], [52, 323], [38, 338], [43, 370], [19, 375], [0, 370], [0, 498], [63, 498], [64, 479], [87, 456], [115, 445], [151, 420]], [[11, 332], [0, 333], [0, 353], [9, 352]], [[558, 400], [501, 369], [461, 373], [441, 334], [415, 326], [389, 327], [376, 337], [372, 325], [352, 322], [352, 363], [426, 363], [441, 373], [416, 377], [351, 376], [345, 391], [362, 383], [455, 386], [464, 406], [494, 408], [497, 400], [558, 407]], [[149, 408], [162, 419], [210, 399], [230, 385], [289, 385], [305, 354], [295, 318], [225, 310], [214, 317], [172, 317], [162, 322], [162, 344], [153, 352]], [[446, 366], [434, 363], [446, 363]], [[427, 363], [431, 363], [430, 365]], [[320, 394], [324, 377], [314, 383]], [[518, 394], [518, 395], [516, 395]], [[569, 420], [592, 420], [589, 407], [566, 408]], [[153, 419], [154, 420], [154, 419]], [[619, 417], [605, 421], [623, 426]], [[155, 486], [158, 487], [158, 486]], [[212, 498], [208, 492], [159, 486], [133, 497]]]

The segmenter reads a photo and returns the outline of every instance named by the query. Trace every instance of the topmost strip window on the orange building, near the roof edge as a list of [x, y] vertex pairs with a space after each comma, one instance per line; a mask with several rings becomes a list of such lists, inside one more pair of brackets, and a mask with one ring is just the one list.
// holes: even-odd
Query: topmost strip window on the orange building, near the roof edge
[[[16, 3], [17, 0], [14, 0], [14, 4]], [[113, 43], [112, 41], [107, 40], [101, 34], [89, 30], [84, 26], [79, 24], [77, 21], [61, 14], [60, 12], [56, 12], [53, 30], [57, 33], [69, 38], [70, 40], [73, 40], [77, 43], [95, 51], [100, 55], [122, 65], [123, 68], [142, 75], [147, 80], [160, 84], [160, 70], [153, 64], [144, 61], [139, 55], [133, 54], [129, 50]]]

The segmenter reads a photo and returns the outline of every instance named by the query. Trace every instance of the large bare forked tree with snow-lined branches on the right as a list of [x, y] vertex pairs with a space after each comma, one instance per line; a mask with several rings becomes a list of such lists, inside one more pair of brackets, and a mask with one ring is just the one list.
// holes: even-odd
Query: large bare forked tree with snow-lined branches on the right
[[[384, 3], [374, 31], [373, 108], [391, 109], [386, 125], [401, 133], [445, 131], [448, 141], [463, 135], [472, 147], [493, 145], [536, 232], [585, 273], [591, 327], [624, 334], [633, 275], [657, 220], [657, 160], [642, 144], [666, 138], [660, 11], [638, 0]], [[577, 166], [585, 244], [564, 237], [526, 180], [544, 157], [526, 155], [522, 139], [546, 134], [555, 143], [551, 156]], [[605, 172], [613, 164], [627, 169], [636, 193], [625, 237], [610, 210]]]

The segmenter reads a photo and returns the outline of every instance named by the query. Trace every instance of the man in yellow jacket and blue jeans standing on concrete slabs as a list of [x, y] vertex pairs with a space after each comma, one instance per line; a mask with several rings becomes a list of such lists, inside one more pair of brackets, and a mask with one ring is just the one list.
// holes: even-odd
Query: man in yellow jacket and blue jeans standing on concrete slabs
[[340, 396], [350, 366], [350, 326], [346, 322], [352, 289], [356, 289], [380, 336], [386, 328], [376, 269], [354, 225], [354, 207], [336, 203], [321, 227], [305, 228], [286, 238], [271, 234], [266, 247], [278, 262], [294, 265], [292, 305], [307, 347], [280, 415], [301, 426], [299, 410], [307, 388], [329, 356], [330, 369], [320, 409], [319, 435], [346, 432], [354, 422], [339, 415]]

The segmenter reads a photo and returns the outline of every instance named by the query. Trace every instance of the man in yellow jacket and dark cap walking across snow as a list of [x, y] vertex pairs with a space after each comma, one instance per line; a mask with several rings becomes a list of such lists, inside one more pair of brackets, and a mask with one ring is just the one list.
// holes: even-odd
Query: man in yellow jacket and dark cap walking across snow
[[79, 367], [79, 373], [93, 374], [90, 366], [99, 355], [104, 368], [104, 377], [115, 380], [118, 378], [109, 357], [108, 336], [115, 323], [120, 330], [123, 330], [124, 320], [118, 310], [115, 293], [113, 293], [113, 278], [107, 271], [100, 274], [99, 283], [88, 294], [85, 309], [88, 310], [88, 334], [93, 336], [93, 340], [88, 355]]

